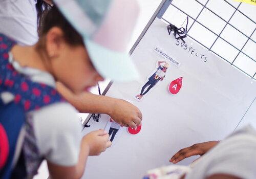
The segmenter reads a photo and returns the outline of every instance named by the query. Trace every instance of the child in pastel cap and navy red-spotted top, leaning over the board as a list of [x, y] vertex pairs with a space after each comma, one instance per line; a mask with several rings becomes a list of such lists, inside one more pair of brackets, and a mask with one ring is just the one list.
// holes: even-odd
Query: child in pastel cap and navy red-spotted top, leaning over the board
[[[43, 159], [47, 160], [52, 178], [81, 177], [87, 156], [100, 154], [111, 142], [108, 140], [109, 135], [103, 130], [91, 132], [85, 137], [80, 136], [79, 121], [74, 121], [77, 119], [77, 111], [55, 91], [55, 80], [62, 82], [73, 94], [80, 94], [102, 80], [102, 76], [122, 81], [135, 79], [138, 75], [134, 64], [123, 53], [127, 42], [125, 40], [129, 39], [127, 34], [131, 33], [138, 14], [136, 2], [54, 2], [72, 26], [54, 7], [45, 17], [39, 41], [33, 46], [18, 46], [8, 35], [1, 34], [0, 37], [0, 136], [4, 136], [4, 140], [0, 140], [1, 178], [32, 178]], [[80, 9], [75, 9], [69, 3]], [[116, 11], [120, 9], [120, 5], [125, 7], [125, 11]], [[94, 17], [95, 14], [90, 14], [92, 9], [101, 13], [102, 11], [98, 11], [100, 6], [105, 8], [103, 12], [106, 15], [96, 14]], [[84, 12], [81, 13], [83, 7], [90, 12], [88, 18], [84, 17]], [[133, 15], [129, 14], [132, 8], [135, 8]], [[115, 21], [120, 19], [113, 18], [116, 16], [108, 9], [119, 12], [120, 19], [124, 19], [120, 11], [125, 12], [125, 18], [130, 18], [125, 20], [125, 26], [118, 24], [123, 28], [121, 37], [116, 35], [117, 28], [114, 27]], [[103, 21], [101, 29], [96, 25], [88, 26], [90, 20], [100, 25], [100, 18], [103, 17], [109, 22]], [[78, 24], [74, 24], [75, 19], [78, 19]], [[110, 32], [105, 31], [109, 27], [113, 28], [113, 32], [106, 34]], [[96, 36], [91, 38], [92, 36], [86, 35], [90, 32]], [[109, 47], [102, 48], [108, 45]], [[108, 68], [108, 64], [112, 65], [111, 68]], [[14, 110], [5, 110], [9, 106]], [[15, 110], [16, 106], [22, 108]], [[19, 116], [25, 117], [25, 122]], [[118, 118], [122, 117], [125, 115], [119, 115]], [[131, 125], [136, 125], [141, 119], [138, 117], [129, 121]], [[20, 128], [17, 129], [17, 126]]]

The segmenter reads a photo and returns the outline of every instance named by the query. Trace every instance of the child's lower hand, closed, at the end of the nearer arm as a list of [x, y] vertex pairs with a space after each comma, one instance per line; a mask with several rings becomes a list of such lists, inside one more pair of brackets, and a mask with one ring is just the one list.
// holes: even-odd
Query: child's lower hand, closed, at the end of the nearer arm
[[108, 132], [99, 129], [88, 133], [83, 137], [83, 142], [87, 143], [90, 149], [89, 155], [100, 155], [101, 152], [109, 148], [112, 142], [109, 140]]

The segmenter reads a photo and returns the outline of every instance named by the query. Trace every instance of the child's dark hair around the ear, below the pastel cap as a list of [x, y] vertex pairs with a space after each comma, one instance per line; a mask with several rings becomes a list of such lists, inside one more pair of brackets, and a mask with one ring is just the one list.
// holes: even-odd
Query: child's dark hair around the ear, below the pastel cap
[[55, 5], [44, 15], [39, 30], [39, 37], [46, 35], [53, 27], [59, 27], [63, 31], [66, 42], [71, 46], [83, 45], [81, 35], [72, 27]]

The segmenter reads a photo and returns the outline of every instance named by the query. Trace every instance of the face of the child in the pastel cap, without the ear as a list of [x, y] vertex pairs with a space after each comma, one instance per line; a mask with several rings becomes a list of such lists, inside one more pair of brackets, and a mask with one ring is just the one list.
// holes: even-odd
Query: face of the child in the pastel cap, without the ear
[[61, 63], [58, 66], [58, 80], [76, 94], [89, 91], [98, 81], [104, 80], [94, 68], [83, 46], [67, 47], [62, 53]]

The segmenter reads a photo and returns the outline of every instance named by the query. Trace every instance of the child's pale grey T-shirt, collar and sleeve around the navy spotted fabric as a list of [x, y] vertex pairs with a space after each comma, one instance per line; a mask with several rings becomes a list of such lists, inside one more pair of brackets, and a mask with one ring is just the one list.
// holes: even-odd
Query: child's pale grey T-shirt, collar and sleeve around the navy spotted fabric
[[[55, 87], [51, 74], [28, 67], [22, 68], [12, 59], [11, 53], [9, 54], [9, 61], [19, 73], [32, 81]], [[14, 96], [7, 92], [1, 93], [0, 97], [5, 103], [14, 99]], [[25, 127], [19, 136], [18, 143], [24, 139], [22, 149], [29, 177], [36, 174], [43, 159], [62, 166], [77, 164], [82, 138], [82, 128], [77, 113], [77, 110], [68, 102], [59, 102], [27, 114]], [[20, 146], [17, 146], [16, 152]], [[14, 163], [17, 161], [16, 156], [15, 153]]]

